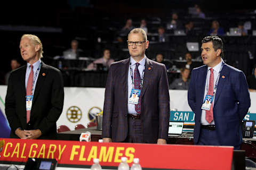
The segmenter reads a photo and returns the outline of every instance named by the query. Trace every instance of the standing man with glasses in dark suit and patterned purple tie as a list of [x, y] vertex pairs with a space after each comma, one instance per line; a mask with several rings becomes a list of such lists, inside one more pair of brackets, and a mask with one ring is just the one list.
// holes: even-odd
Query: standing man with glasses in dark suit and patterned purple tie
[[103, 142], [165, 144], [170, 118], [166, 68], [146, 57], [144, 30], [131, 30], [127, 45], [131, 57], [111, 64], [108, 73]]

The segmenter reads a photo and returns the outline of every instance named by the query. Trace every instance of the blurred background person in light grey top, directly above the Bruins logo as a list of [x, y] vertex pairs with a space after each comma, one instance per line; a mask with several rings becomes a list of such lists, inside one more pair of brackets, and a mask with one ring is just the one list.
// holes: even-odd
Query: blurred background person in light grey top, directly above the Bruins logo
[[83, 53], [82, 49], [78, 48], [78, 41], [73, 39], [71, 41], [71, 48], [63, 52], [64, 59], [77, 59]]

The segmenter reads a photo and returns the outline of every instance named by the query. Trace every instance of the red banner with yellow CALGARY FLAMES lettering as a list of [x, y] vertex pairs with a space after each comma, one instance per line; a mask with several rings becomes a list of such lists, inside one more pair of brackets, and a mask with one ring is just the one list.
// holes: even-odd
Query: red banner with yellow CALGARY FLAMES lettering
[[130, 166], [139, 158], [143, 168], [230, 170], [233, 147], [0, 139], [2, 162], [27, 162], [31, 157], [92, 165], [93, 158], [99, 158], [101, 166], [118, 166], [123, 156]]

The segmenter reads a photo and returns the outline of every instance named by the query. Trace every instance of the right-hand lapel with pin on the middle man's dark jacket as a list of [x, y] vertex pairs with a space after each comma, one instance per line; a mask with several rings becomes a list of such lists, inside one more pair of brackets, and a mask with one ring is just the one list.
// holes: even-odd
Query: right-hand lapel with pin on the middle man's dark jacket
[[153, 64], [146, 57], [145, 74], [144, 74], [144, 80], [143, 80], [143, 87], [141, 90], [141, 98], [143, 97], [143, 95], [145, 94], [145, 91], [147, 90], [152, 73], [153, 73]]

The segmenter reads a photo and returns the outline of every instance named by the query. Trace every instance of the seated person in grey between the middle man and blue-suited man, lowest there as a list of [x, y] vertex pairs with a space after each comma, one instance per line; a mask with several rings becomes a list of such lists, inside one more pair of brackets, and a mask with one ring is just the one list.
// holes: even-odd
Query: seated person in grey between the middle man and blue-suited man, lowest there
[[169, 89], [176, 90], [188, 90], [189, 85], [189, 73], [190, 70], [187, 68], [180, 69], [181, 78], [175, 79], [169, 86]]

